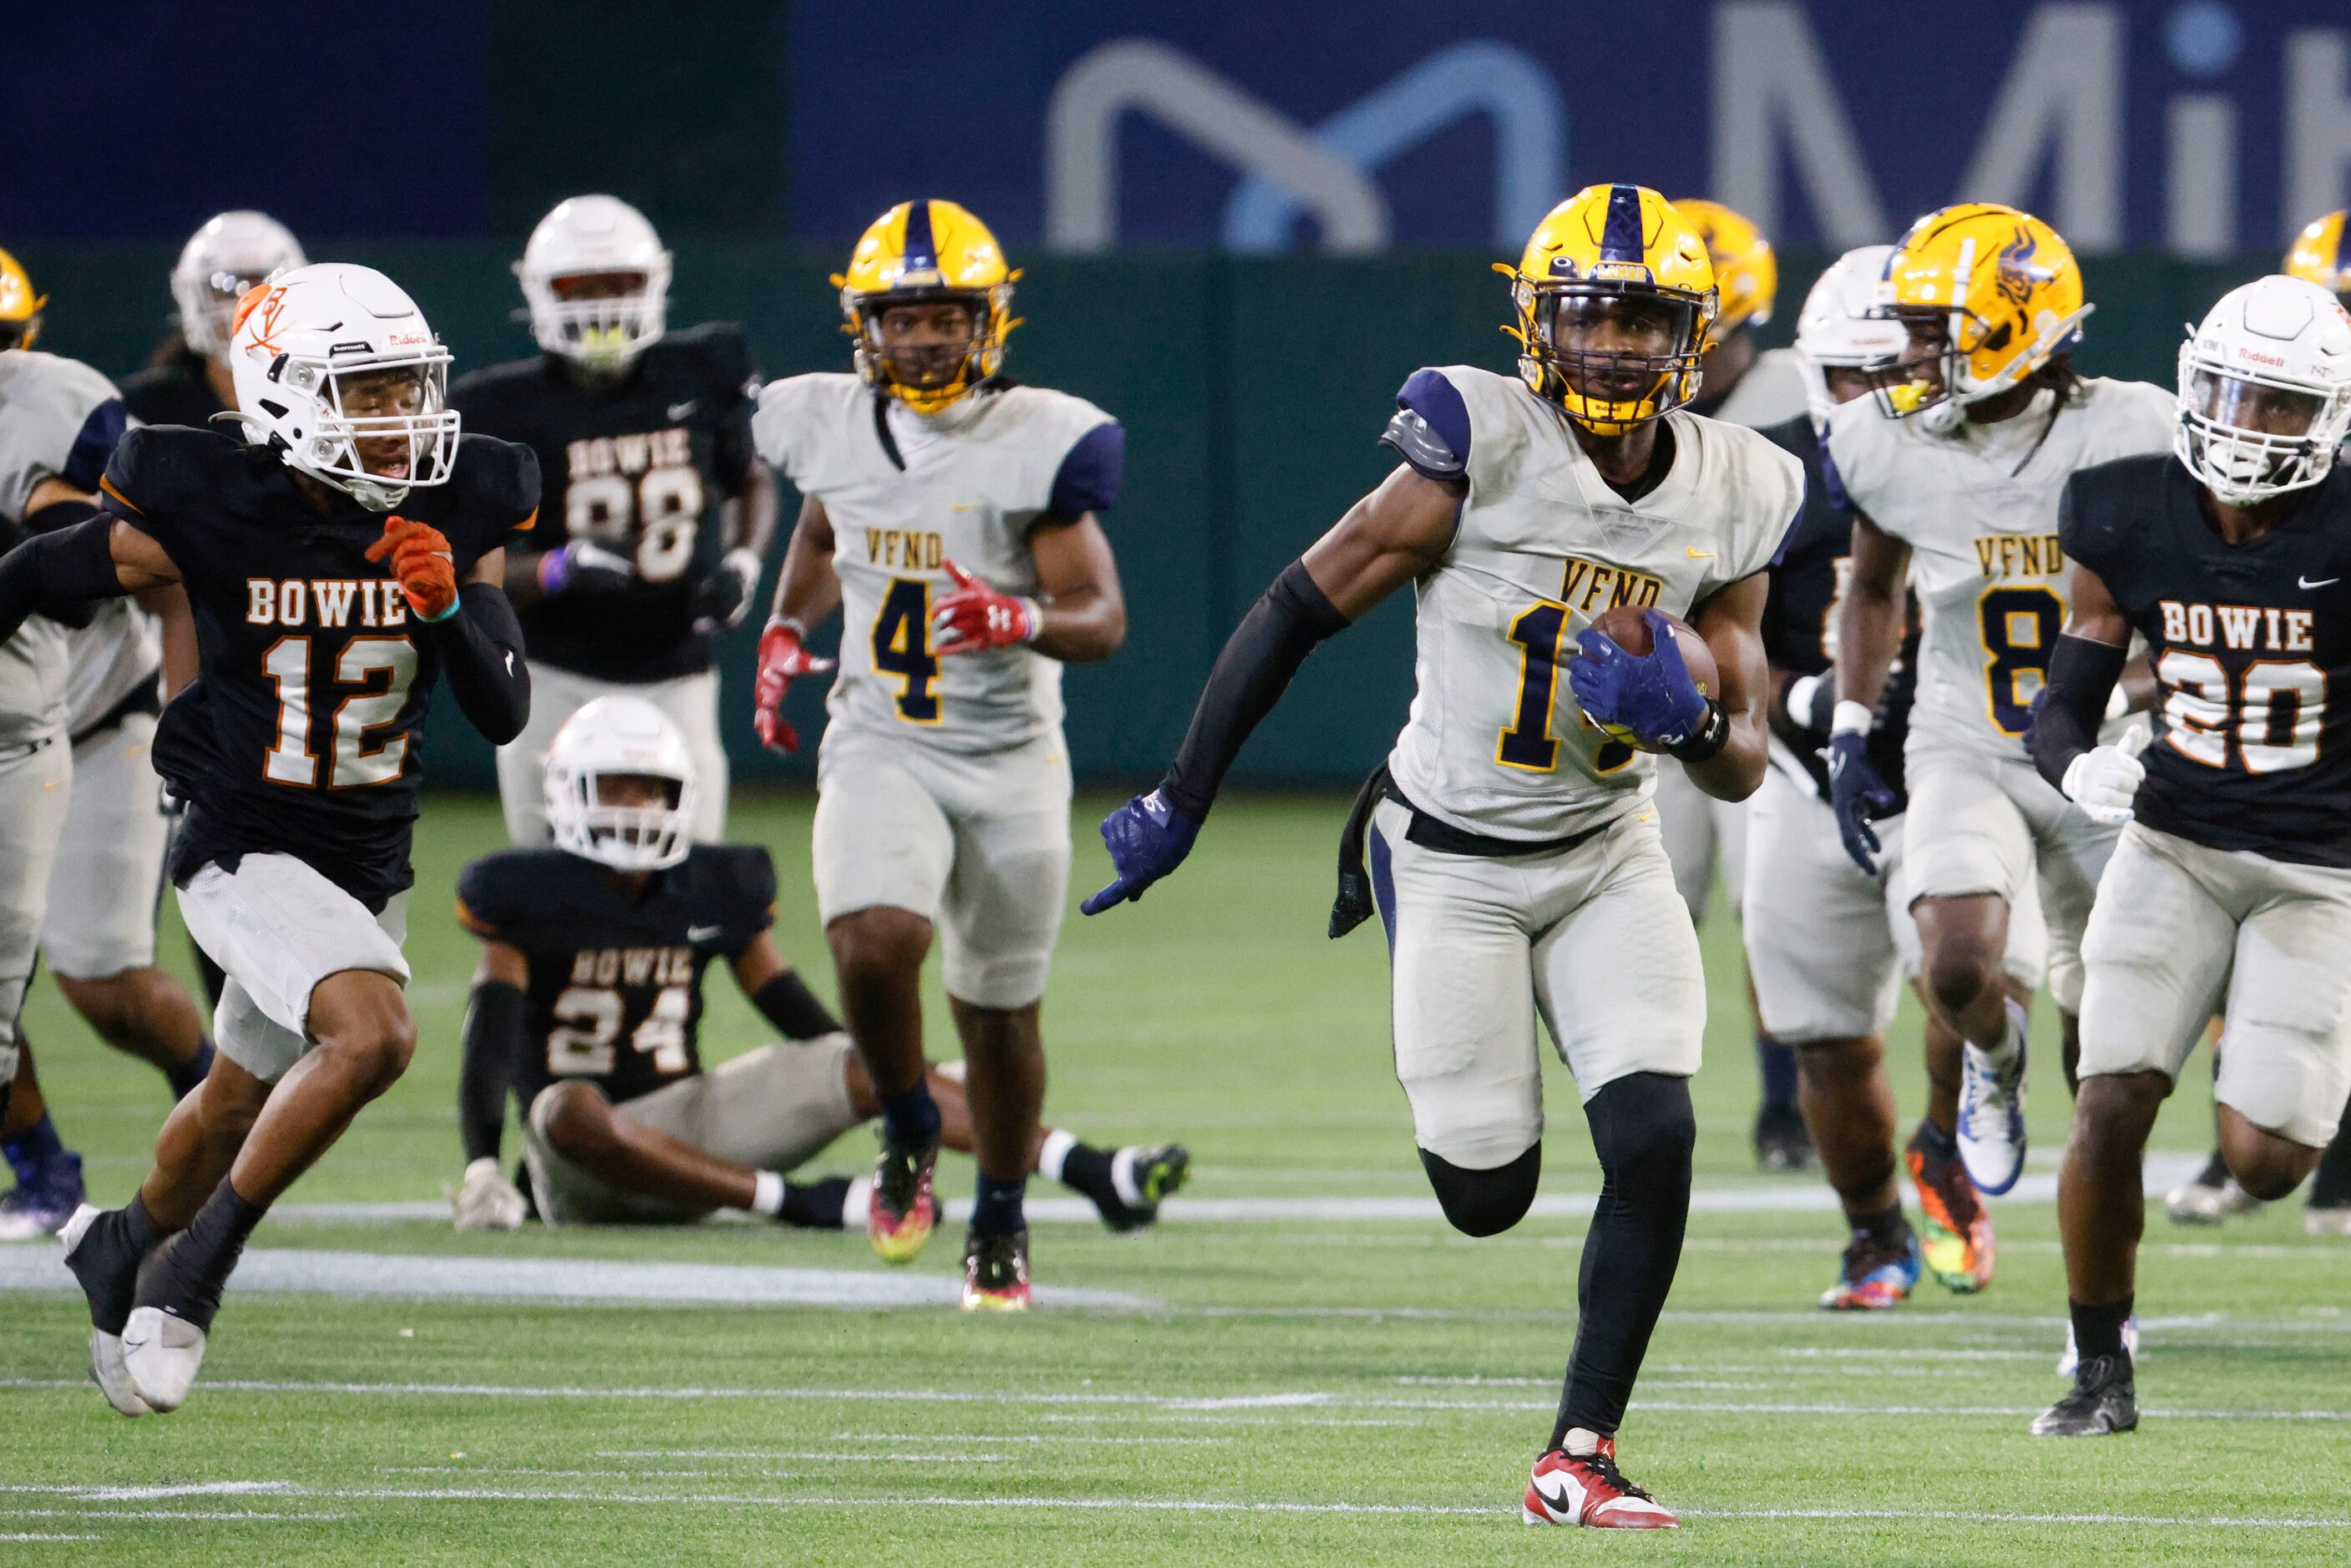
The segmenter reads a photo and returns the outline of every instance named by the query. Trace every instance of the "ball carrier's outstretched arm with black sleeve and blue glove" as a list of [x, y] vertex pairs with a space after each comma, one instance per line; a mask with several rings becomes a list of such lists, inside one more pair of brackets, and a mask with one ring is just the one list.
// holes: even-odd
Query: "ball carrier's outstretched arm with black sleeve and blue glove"
[[1396, 468], [1274, 578], [1218, 654], [1166, 778], [1103, 818], [1103, 844], [1119, 875], [1079, 905], [1086, 914], [1143, 898], [1152, 882], [1183, 865], [1241, 743], [1272, 712], [1298, 665], [1326, 637], [1444, 562], [1462, 494], [1465, 480]]

